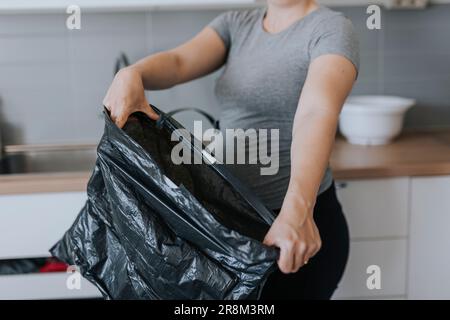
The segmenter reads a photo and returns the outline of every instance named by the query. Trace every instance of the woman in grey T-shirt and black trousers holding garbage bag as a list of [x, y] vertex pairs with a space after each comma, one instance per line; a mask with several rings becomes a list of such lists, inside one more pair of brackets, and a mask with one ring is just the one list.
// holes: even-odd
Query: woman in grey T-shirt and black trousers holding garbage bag
[[122, 69], [104, 105], [122, 127], [136, 111], [157, 119], [144, 89], [166, 89], [225, 65], [217, 81], [224, 128], [279, 129], [280, 167], [236, 175], [278, 214], [265, 244], [279, 271], [262, 298], [329, 299], [348, 257], [348, 230], [328, 161], [338, 116], [358, 72], [351, 23], [313, 0], [268, 0], [227, 12], [192, 40]]

